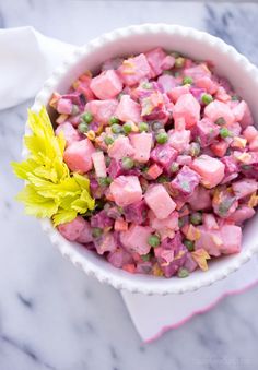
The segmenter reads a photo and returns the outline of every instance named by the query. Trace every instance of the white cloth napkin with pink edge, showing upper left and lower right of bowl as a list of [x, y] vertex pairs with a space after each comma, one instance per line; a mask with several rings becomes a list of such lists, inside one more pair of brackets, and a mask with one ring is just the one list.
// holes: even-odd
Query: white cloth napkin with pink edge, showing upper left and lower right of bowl
[[[33, 97], [73, 49], [74, 46], [46, 37], [32, 27], [0, 29], [0, 109]], [[211, 309], [221, 298], [242, 293], [256, 283], [258, 259], [254, 258], [226, 279], [195, 293], [165, 297], [128, 291], [121, 295], [137, 331], [148, 342]]]

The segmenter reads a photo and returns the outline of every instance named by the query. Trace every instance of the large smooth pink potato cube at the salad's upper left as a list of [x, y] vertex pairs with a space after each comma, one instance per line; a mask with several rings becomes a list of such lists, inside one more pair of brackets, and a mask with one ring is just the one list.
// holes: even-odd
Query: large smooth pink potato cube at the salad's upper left
[[92, 79], [91, 89], [98, 99], [112, 99], [122, 91], [122, 83], [116, 71], [107, 70]]

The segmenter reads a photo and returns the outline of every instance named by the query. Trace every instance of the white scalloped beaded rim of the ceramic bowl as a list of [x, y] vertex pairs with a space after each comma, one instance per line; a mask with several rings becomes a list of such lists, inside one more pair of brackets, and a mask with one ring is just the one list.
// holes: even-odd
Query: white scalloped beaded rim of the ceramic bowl
[[[235, 62], [239, 63], [245, 69], [245, 73], [251, 73], [254, 83], [258, 91], [258, 70], [251, 64], [246, 57], [238, 53], [234, 47], [225, 44], [218, 37], [214, 37], [206, 32], [197, 31], [195, 28], [168, 25], [168, 24], [142, 24], [133, 25], [124, 28], [117, 28], [113, 32], [103, 34], [102, 36], [87, 43], [85, 46], [78, 47], [63, 63], [57, 68], [52, 75], [45, 82], [43, 88], [37, 94], [33, 110], [38, 111], [42, 105], [48, 104], [49, 94], [54, 92], [55, 87], [68, 73], [71, 67], [75, 65], [81, 59], [90, 56], [93, 51], [101, 49], [104, 45], [121, 40], [130, 36], [137, 35], [178, 35], [204, 44], [220, 50], [225, 55], [230, 55]], [[103, 61], [105, 58], [103, 59]], [[27, 123], [25, 126], [25, 133], [30, 132]], [[26, 156], [26, 150], [23, 148], [23, 156]], [[186, 291], [194, 291], [201, 287], [209, 286], [218, 281], [225, 278], [231, 273], [237, 271], [244, 263], [258, 252], [258, 241], [254, 242], [248, 249], [243, 249], [241, 253], [223, 258], [221, 262], [215, 263], [220, 266], [208, 271], [206, 273], [196, 271], [188, 278], [164, 278], [140, 274], [129, 274], [122, 270], [116, 268], [107, 261], [99, 258], [96, 253], [85, 250], [82, 246], [70, 242], [64, 239], [57, 229], [54, 228], [50, 219], [42, 219], [42, 227], [50, 238], [50, 241], [61, 254], [69, 259], [75, 266], [81, 267], [87, 275], [96, 277], [99, 282], [107, 283], [116, 289], [126, 289], [131, 293], [142, 293], [145, 295], [166, 295], [166, 294], [184, 294]], [[257, 238], [258, 239], [258, 238]]]

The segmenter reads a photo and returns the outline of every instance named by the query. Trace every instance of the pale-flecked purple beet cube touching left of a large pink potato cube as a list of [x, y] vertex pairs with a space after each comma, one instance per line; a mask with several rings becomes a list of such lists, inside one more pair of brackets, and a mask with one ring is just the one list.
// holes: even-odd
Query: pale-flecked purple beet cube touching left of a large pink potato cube
[[188, 166], [184, 166], [171, 182], [171, 187], [183, 195], [190, 195], [199, 182], [200, 176]]

